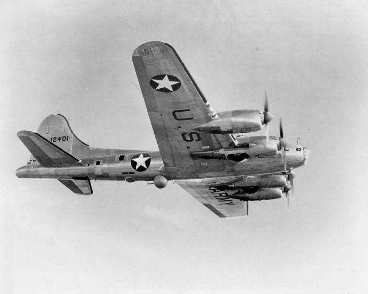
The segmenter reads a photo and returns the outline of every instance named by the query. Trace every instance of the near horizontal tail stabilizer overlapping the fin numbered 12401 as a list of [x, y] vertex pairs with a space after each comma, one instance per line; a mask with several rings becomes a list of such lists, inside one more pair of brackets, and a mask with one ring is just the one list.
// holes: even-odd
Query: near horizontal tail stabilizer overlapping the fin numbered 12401
[[76, 164], [80, 161], [41, 135], [31, 131], [20, 131], [17, 136], [37, 161], [45, 167]]

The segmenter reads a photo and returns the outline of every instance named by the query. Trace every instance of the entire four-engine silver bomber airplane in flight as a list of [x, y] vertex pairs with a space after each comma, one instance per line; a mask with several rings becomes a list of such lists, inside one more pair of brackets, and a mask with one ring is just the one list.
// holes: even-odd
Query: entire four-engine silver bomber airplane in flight
[[[53, 178], [75, 194], [91, 195], [91, 179], [164, 188], [176, 182], [221, 218], [248, 215], [249, 201], [281, 198], [293, 192], [294, 169], [309, 150], [269, 135], [267, 94], [263, 110], [216, 113], [175, 49], [152, 41], [139, 46], [133, 65], [159, 151], [102, 149], [83, 143], [61, 114], [51, 114], [37, 132], [20, 131], [31, 152], [16, 171], [20, 178]], [[263, 125], [266, 136], [247, 136]]]

